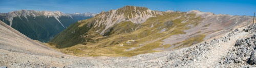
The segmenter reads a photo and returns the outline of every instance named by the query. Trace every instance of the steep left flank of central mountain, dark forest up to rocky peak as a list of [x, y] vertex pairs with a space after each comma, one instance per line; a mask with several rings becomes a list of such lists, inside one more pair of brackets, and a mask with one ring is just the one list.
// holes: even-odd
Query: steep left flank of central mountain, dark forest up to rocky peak
[[[108, 12], [103, 11], [100, 14], [97, 14], [93, 18], [76, 22], [75, 24], [71, 25], [72, 27], [69, 27], [69, 29], [62, 31], [63, 34], [60, 33], [55, 38], [55, 39], [65, 40], [65, 41], [58, 41], [58, 40], [52, 40], [52, 41], [56, 42], [62, 47], [74, 46], [74, 44], [80, 43], [79, 41], [82, 40], [81, 38], [79, 38], [80, 35], [86, 32], [90, 33], [88, 32], [89, 30], [92, 31], [92, 34], [96, 32], [96, 33], [99, 33], [100, 35], [106, 36], [110, 33], [110, 27], [112, 27], [114, 24], [119, 24], [119, 22], [129, 22], [129, 21], [133, 22], [132, 24], [141, 24], [147, 18], [156, 16], [156, 14], [157, 14], [156, 11], [152, 11], [145, 7], [134, 7], [134, 6], [125, 6], [123, 8], [120, 8], [117, 10], [111, 10]], [[76, 35], [71, 35], [71, 34], [76, 34]], [[69, 38], [69, 39], [65, 39], [65, 38]], [[87, 39], [87, 40], [90, 41], [91, 39]], [[66, 41], [70, 41], [70, 42], [66, 42]]]

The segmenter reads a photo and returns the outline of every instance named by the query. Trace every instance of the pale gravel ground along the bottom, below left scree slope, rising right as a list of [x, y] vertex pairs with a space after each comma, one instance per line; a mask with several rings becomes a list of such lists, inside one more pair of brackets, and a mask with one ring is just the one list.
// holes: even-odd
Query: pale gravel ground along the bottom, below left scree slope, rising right
[[[256, 67], [256, 26], [228, 29], [194, 46], [133, 57], [61, 57], [0, 49], [2, 67]], [[0, 45], [3, 47], [2, 45]]]

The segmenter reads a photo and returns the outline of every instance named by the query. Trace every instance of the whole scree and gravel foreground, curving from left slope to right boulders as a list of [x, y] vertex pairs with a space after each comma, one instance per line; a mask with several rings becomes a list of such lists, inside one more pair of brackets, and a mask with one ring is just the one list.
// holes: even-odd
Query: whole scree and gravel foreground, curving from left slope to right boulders
[[80, 54], [77, 57], [53, 50], [49, 48], [53, 45], [47, 47], [0, 21], [0, 67], [255, 67], [256, 26], [252, 19], [248, 22], [188, 48], [133, 57], [84, 57], [90, 55], [80, 54], [85, 47], [66, 50]]

